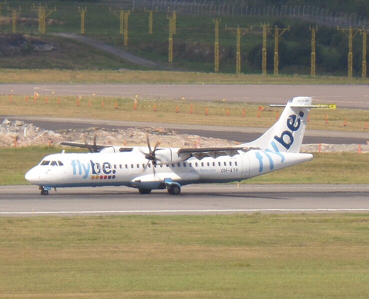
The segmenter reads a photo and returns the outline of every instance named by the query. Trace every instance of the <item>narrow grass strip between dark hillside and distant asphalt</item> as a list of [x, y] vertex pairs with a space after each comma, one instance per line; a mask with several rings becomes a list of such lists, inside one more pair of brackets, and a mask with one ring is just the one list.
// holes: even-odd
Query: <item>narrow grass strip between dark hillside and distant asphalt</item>
[[[111, 58], [111, 57], [110, 57]], [[18, 59], [18, 58], [16, 58]], [[82, 60], [83, 61], [83, 60]], [[1, 63], [1, 62], [0, 62]], [[77, 62], [70, 61], [77, 65]], [[152, 83], [152, 84], [368, 84], [369, 78], [344, 76], [223, 74], [142, 70], [0, 68], [0, 83]]]

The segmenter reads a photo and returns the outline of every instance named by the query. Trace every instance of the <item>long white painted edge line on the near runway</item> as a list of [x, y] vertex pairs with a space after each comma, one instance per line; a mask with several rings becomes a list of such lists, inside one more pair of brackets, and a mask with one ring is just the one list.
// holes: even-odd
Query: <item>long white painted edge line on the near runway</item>
[[130, 214], [130, 213], [216, 213], [216, 212], [369, 212], [369, 209], [235, 209], [235, 210], [132, 210], [132, 211], [58, 211], [0, 212], [0, 215], [42, 214]]

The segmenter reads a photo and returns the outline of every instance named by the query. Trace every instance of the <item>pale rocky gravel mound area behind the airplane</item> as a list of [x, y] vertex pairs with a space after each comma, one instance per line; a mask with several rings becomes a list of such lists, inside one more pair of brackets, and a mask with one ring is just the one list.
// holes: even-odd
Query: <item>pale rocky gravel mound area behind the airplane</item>
[[[211, 147], [211, 146], [235, 146], [236, 143], [229, 140], [204, 138], [196, 135], [178, 134], [174, 130], [166, 128], [128, 128], [128, 129], [104, 129], [90, 127], [84, 129], [68, 130], [43, 130], [23, 121], [9, 121], [5, 119], [0, 123], [0, 146], [32, 146], [51, 145], [62, 141], [92, 143], [96, 136], [96, 143], [103, 145], [127, 145], [137, 146], [146, 144], [146, 136], [150, 143], [159, 142], [160, 146], [168, 147]], [[301, 152], [357, 152], [357, 144], [303, 144]], [[369, 152], [369, 144], [360, 145], [362, 152]]]

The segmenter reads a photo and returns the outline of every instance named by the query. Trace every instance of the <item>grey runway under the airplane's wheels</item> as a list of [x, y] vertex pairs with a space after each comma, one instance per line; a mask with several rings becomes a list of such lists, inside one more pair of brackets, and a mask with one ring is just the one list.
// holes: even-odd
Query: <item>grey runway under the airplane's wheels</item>
[[189, 185], [140, 195], [127, 187], [0, 186], [0, 216], [368, 213], [369, 185]]

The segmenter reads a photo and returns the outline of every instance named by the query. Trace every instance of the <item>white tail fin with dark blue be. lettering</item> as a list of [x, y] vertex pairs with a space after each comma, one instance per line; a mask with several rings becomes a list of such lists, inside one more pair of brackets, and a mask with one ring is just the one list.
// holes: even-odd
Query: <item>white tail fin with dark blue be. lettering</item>
[[272, 152], [298, 153], [300, 151], [311, 97], [298, 96], [289, 100], [279, 120], [254, 141], [241, 144]]

